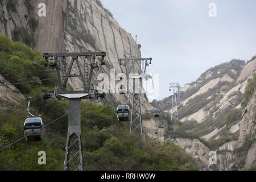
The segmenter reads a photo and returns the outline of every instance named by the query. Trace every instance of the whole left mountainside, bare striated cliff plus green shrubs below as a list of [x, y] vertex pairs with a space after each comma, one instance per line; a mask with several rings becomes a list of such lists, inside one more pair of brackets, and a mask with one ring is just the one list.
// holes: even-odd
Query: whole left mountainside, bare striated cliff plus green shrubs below
[[[1, 32], [7, 34], [9, 38], [15, 41], [20, 41], [31, 48], [37, 48], [40, 52], [72, 52], [72, 26], [73, 26], [73, 1], [19, 1], [18, 4], [12, 4], [13, 8], [7, 10], [7, 3], [13, 1], [1, 1], [1, 10], [5, 18], [1, 21], [1, 27], [4, 27]], [[44, 2], [47, 6], [47, 17], [37, 16], [38, 3]], [[79, 1], [78, 5], [78, 19], [77, 19], [77, 49], [76, 51], [106, 51], [106, 66], [100, 68], [100, 72], [94, 74], [93, 83], [97, 85], [98, 80], [96, 75], [98, 73], [110, 74], [110, 69], [115, 68], [116, 73], [124, 71], [124, 68], [118, 64], [120, 57], [140, 57], [141, 53], [137, 44], [123, 28], [119, 27], [118, 23], [112, 18], [109, 11], [105, 10], [99, 1]], [[19, 9], [15, 10], [15, 6], [19, 5]], [[32, 6], [34, 5], [34, 13]], [[6, 14], [8, 16], [6, 16]], [[18, 16], [15, 17], [15, 16]], [[2, 15], [1, 15], [2, 17]], [[11, 17], [11, 18], [10, 18]], [[31, 31], [32, 27], [26, 27], [23, 23], [23, 18], [27, 17], [27, 22], [38, 20], [37, 27]], [[11, 20], [14, 19], [14, 20]], [[18, 22], [14, 24], [13, 22]], [[35, 23], [35, 22], [34, 22]], [[29, 24], [29, 23], [28, 23]], [[9, 26], [9, 28], [6, 28]], [[15, 32], [15, 34], [14, 34]], [[22, 32], [26, 32], [23, 34]], [[1, 35], [1, 38], [4, 36]], [[32, 39], [27, 39], [32, 38]], [[1, 39], [2, 40], [2, 39]], [[29, 40], [29, 41], [28, 41]], [[10, 41], [9, 41], [10, 42]], [[21, 46], [20, 43], [15, 44], [16, 51], [26, 49], [32, 52], [27, 47]], [[23, 54], [11, 55], [5, 45], [1, 48], [4, 53], [8, 53], [8, 59], [11, 56], [16, 56], [17, 60], [20, 57], [25, 57], [26, 51]], [[18, 48], [17, 48], [18, 47]], [[1, 53], [2, 53], [1, 52]], [[15, 52], [16, 53], [16, 52]], [[10, 56], [11, 55], [11, 56]], [[40, 55], [36, 55], [38, 63], [42, 61]], [[5, 60], [1, 60], [5, 61]], [[7, 62], [9, 62], [8, 60]], [[24, 71], [33, 69], [37, 71], [37, 66], [42, 66], [36, 63], [34, 59], [25, 60], [28, 67]], [[83, 60], [80, 60], [81, 62]], [[33, 67], [30, 67], [30, 64]], [[23, 63], [19, 67], [26, 65]], [[134, 72], [138, 72], [140, 64], [135, 65]], [[40, 68], [39, 68], [40, 70]], [[22, 72], [20, 72], [22, 74]], [[51, 74], [53, 71], [51, 70]], [[76, 73], [76, 72], [75, 72]], [[31, 74], [34, 76], [35, 74]], [[26, 78], [30, 74], [26, 75]], [[36, 75], [37, 76], [37, 75]], [[46, 76], [46, 75], [44, 75]], [[52, 76], [52, 75], [51, 75]], [[40, 77], [39, 77], [40, 78]], [[1, 78], [2, 84], [7, 84], [5, 78]], [[36, 85], [38, 84], [38, 85]], [[71, 79], [68, 82], [71, 88], [81, 87], [81, 81], [78, 79]], [[31, 92], [26, 94], [41, 94], [46, 92], [49, 87], [42, 83], [35, 83]], [[45, 87], [44, 87], [45, 86]], [[0, 97], [4, 99], [14, 99], [17, 101], [24, 100], [24, 96], [16, 90], [14, 86], [2, 86], [3, 92]], [[17, 95], [15, 95], [15, 92]], [[147, 110], [151, 110], [152, 106], [148, 103], [147, 98], [141, 95], [142, 113], [145, 115]], [[40, 97], [39, 97], [40, 98]], [[119, 94], [107, 94], [106, 100], [101, 102], [107, 103], [116, 107], [117, 104], [123, 104], [127, 101], [127, 97]], [[8, 102], [6, 102], [8, 105]], [[82, 101], [82, 103], [85, 103]], [[2, 105], [1, 105], [2, 106]], [[7, 144], [23, 137], [23, 122], [26, 118], [26, 106], [18, 108], [15, 112], [6, 112], [1, 114], [0, 121], [0, 148]], [[1, 110], [3, 108], [0, 108]], [[42, 114], [43, 121], [49, 123], [67, 113], [68, 102], [62, 100], [59, 102], [53, 100], [43, 101], [40, 98], [32, 102], [31, 111], [36, 115]], [[4, 109], [3, 109], [4, 110]], [[97, 105], [88, 103], [81, 108], [81, 122], [82, 122], [82, 143], [83, 154], [85, 159], [86, 170], [186, 170], [197, 169], [194, 160], [181, 150], [178, 146], [166, 144], [159, 144], [149, 140], [142, 142], [137, 135], [129, 134], [129, 131], [123, 127], [123, 123], [116, 121], [114, 110], [108, 105]], [[159, 124], [159, 122], [157, 122]], [[97, 124], [97, 127], [94, 127]], [[147, 123], [145, 122], [145, 125]], [[143, 125], [144, 126], [144, 125]], [[164, 129], [163, 129], [164, 130]], [[60, 119], [60, 121], [53, 123], [47, 127], [46, 137], [43, 142], [27, 144], [22, 140], [16, 143], [12, 150], [3, 151], [0, 155], [0, 169], [1, 170], [62, 170], [63, 159], [65, 155], [65, 139], [67, 132], [67, 117]], [[147, 131], [146, 131], [147, 132]], [[162, 137], [163, 138], [163, 137]], [[40, 148], [40, 149], [39, 149]], [[47, 152], [46, 166], [38, 165], [38, 150], [42, 148]], [[22, 158], [20, 157], [22, 156]], [[179, 160], [175, 160], [179, 159]], [[112, 164], [110, 164], [111, 162]]]

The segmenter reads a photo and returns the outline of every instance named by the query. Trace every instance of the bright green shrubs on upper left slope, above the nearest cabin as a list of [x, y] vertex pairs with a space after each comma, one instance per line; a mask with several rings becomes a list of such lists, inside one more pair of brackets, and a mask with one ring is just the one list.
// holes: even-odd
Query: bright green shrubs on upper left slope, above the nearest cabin
[[[39, 51], [24, 46], [20, 42], [11, 42], [0, 34], [0, 74], [11, 83], [36, 81], [56, 77], [53, 71], [44, 67], [45, 59]], [[3, 81], [2, 81], [3, 83]], [[31, 93], [40, 86], [52, 86], [54, 80], [16, 85], [23, 94]]]

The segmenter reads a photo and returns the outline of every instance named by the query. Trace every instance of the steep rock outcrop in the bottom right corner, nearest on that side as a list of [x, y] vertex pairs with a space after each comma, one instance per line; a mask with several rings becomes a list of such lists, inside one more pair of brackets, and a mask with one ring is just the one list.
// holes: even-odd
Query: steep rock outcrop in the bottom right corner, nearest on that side
[[[255, 96], [256, 93], [254, 93]], [[238, 140], [225, 143], [217, 150], [218, 168], [221, 170], [228, 169], [255, 169], [256, 167], [256, 137], [255, 137], [255, 97], [252, 97], [245, 109], [243, 109], [242, 119], [237, 125], [239, 126]], [[237, 127], [237, 126], [236, 126]], [[246, 148], [245, 142], [251, 142], [249, 148]]]

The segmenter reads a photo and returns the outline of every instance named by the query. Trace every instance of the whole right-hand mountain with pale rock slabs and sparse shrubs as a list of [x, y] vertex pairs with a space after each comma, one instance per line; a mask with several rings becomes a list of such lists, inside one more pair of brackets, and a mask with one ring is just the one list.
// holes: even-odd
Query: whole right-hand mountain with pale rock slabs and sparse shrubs
[[[218, 169], [255, 168], [255, 92], [245, 101], [246, 85], [255, 82], [255, 73], [255, 56], [247, 63], [232, 60], [208, 69], [181, 89], [184, 94], [178, 112], [183, 126], [179, 130], [186, 132], [180, 137], [191, 138], [189, 142], [200, 139], [207, 146], [205, 152], [216, 150]], [[170, 111], [164, 101], [162, 109]]]

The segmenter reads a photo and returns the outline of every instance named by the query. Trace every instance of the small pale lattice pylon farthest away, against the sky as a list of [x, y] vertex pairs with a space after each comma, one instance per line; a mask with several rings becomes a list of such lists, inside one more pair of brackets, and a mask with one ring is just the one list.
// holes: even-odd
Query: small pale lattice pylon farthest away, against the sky
[[170, 114], [171, 114], [171, 122], [174, 122], [179, 120], [177, 105], [180, 103], [180, 84], [171, 82], [169, 91], [173, 91], [172, 108], [171, 108]]

